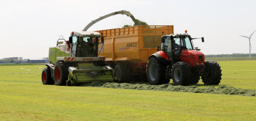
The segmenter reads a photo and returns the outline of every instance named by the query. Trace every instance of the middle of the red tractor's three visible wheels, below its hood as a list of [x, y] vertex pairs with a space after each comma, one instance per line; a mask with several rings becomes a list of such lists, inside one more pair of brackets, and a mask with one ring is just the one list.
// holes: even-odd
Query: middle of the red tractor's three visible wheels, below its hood
[[188, 86], [191, 84], [191, 68], [185, 62], [177, 62], [172, 66], [174, 85]]

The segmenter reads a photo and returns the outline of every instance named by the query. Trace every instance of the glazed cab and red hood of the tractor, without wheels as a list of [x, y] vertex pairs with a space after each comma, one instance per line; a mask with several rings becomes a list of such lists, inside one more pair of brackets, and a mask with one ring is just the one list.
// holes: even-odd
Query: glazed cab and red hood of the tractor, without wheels
[[[186, 32], [186, 31], [185, 31]], [[204, 54], [193, 46], [193, 39], [187, 34], [170, 34], [162, 36], [161, 51], [167, 55], [172, 64], [175, 62], [187, 62], [189, 66], [201, 66], [204, 63]], [[200, 38], [204, 42], [204, 37]]]

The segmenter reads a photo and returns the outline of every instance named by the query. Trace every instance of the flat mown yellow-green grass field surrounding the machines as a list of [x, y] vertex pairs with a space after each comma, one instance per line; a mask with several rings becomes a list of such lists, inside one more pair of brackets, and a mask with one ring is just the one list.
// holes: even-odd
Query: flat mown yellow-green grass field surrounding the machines
[[[220, 85], [256, 89], [256, 61], [218, 63]], [[255, 97], [43, 85], [36, 67], [0, 66], [0, 120], [256, 120]]]

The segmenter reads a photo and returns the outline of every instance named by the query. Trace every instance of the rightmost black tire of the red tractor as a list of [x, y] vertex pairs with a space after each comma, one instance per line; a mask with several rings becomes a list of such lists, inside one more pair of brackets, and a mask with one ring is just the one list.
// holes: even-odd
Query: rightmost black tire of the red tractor
[[218, 85], [221, 80], [221, 68], [217, 62], [205, 62], [205, 70], [202, 80], [205, 85]]

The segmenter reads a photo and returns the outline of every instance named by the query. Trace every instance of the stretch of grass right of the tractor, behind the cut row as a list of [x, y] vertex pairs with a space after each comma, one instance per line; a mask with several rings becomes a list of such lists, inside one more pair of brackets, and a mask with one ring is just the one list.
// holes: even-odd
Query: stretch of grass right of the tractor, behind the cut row
[[[218, 63], [222, 70], [220, 85], [256, 90], [256, 60], [218, 61]], [[203, 85], [200, 80], [197, 87], [208, 87], [208, 85]]]

